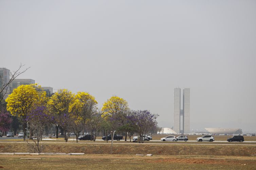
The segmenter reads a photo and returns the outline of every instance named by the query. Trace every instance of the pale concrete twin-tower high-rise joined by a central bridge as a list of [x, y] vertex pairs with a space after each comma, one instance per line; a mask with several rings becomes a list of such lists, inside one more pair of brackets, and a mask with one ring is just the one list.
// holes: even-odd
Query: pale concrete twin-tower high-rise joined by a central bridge
[[190, 89], [174, 89], [173, 130], [176, 133], [190, 132]]

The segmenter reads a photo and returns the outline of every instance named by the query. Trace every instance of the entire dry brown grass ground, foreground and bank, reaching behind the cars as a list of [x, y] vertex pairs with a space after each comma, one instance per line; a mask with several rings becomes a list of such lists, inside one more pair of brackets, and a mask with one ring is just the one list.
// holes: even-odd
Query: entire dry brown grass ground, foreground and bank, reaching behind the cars
[[[167, 135], [153, 136], [153, 140], [160, 140], [165, 136]], [[189, 140], [196, 140], [197, 137], [200, 136], [188, 136]], [[225, 141], [228, 137], [230, 136], [215, 136], [215, 139]], [[256, 141], [255, 137], [244, 138], [245, 141]], [[15, 143], [7, 143], [11, 141]], [[112, 155], [110, 141], [62, 142], [61, 138], [43, 141], [43, 152], [85, 155], [0, 155], [0, 169], [256, 169], [256, 145], [248, 142], [148, 141], [139, 144], [114, 141]], [[227, 145], [215, 145], [222, 143]], [[0, 152], [28, 152], [28, 148], [22, 140], [0, 140]], [[136, 153], [153, 156], [135, 156]], [[40, 160], [21, 160], [28, 157]]]

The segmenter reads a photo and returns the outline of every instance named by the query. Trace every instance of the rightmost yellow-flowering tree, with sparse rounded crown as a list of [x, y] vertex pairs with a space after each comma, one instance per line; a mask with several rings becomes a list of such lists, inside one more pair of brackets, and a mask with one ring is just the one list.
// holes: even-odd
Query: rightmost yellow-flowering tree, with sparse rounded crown
[[[103, 104], [102, 117], [109, 120], [112, 130], [115, 130], [117, 126], [125, 124], [129, 110], [128, 103], [125, 99], [112, 96]], [[126, 138], [127, 136], [125, 135], [125, 140]]]

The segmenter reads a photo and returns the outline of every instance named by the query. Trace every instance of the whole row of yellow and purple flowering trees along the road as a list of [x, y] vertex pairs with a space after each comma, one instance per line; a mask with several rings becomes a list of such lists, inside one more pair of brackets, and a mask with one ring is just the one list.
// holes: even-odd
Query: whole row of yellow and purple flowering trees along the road
[[[141, 136], [149, 131], [159, 130], [156, 121], [158, 115], [151, 114], [147, 110], [132, 111], [127, 101], [117, 96], [108, 99], [99, 109], [95, 97], [89, 93], [73, 94], [67, 89], [60, 89], [52, 96], [47, 96], [41, 86], [30, 84], [14, 89], [5, 102], [6, 111], [19, 118], [24, 133], [29, 125], [30, 136], [38, 140], [38, 147], [44, 127], [50, 124], [56, 126], [56, 138], [58, 138], [58, 129], [63, 130], [66, 142], [71, 131], [75, 133], [77, 140], [85, 126], [90, 127], [91, 133], [94, 132], [92, 133], [94, 140], [100, 130], [123, 132], [125, 140], [127, 135], [131, 139], [133, 133]], [[8, 113], [1, 111], [1, 115], [4, 114]], [[9, 118], [5, 117], [6, 120]], [[6, 127], [2, 130], [6, 130]]]

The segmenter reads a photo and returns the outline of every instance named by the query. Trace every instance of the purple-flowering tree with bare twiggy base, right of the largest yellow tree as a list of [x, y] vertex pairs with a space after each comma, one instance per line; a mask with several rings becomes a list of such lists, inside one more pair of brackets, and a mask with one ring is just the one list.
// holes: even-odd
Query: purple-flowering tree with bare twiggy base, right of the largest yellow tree
[[48, 115], [45, 106], [39, 106], [27, 114], [26, 121], [29, 122], [30, 134], [33, 135], [33, 143], [28, 143], [30, 152], [40, 153], [42, 151], [42, 135], [46, 125], [49, 125], [53, 121], [53, 117]]

